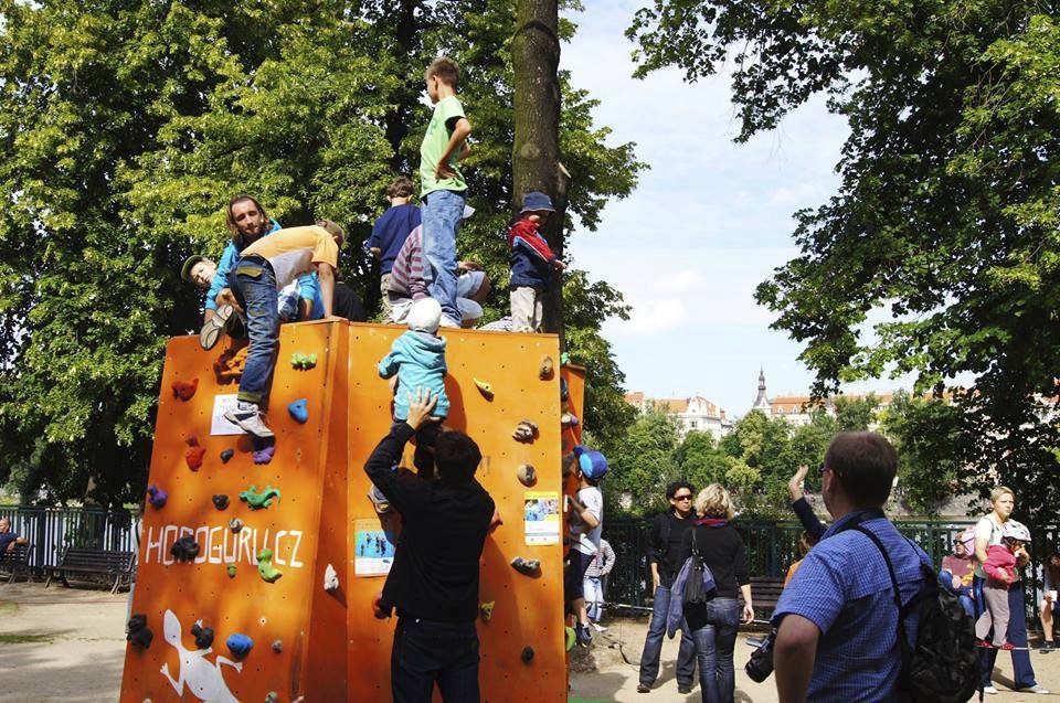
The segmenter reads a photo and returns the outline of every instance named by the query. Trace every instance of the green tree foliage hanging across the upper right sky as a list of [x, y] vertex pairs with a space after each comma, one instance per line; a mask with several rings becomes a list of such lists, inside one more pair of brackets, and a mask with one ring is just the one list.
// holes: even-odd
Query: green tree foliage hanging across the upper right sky
[[[847, 117], [838, 193], [796, 214], [801, 253], [757, 289], [825, 395], [913, 373], [956, 400], [982, 483], [1054, 514], [1060, 366], [1060, 26], [1041, 0], [654, 0], [638, 73], [732, 66], [738, 140], [816, 94]], [[728, 63], [727, 63], [728, 62]], [[865, 334], [869, 313], [890, 319]], [[996, 473], [989, 471], [995, 469]]]

